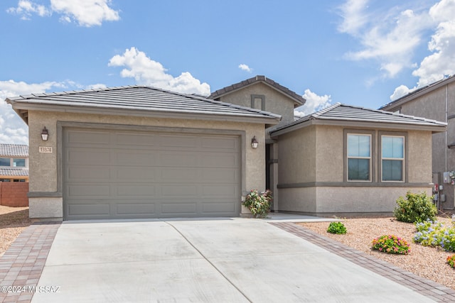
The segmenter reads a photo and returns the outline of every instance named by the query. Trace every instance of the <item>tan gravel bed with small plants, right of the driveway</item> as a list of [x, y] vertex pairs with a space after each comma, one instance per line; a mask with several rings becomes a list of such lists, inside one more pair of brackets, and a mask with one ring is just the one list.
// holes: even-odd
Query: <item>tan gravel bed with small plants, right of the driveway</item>
[[[447, 256], [454, 253], [414, 243], [413, 237], [416, 231], [414, 224], [396, 221], [395, 218], [343, 219], [341, 221], [348, 231], [344, 235], [328, 233], [327, 228], [330, 222], [311, 222], [300, 225], [455, 290], [455, 269], [446, 264]], [[444, 223], [444, 226], [451, 225], [449, 216], [438, 217], [438, 221]], [[392, 255], [371, 249], [371, 242], [374, 238], [389, 234], [404, 238], [407, 243], [410, 243], [411, 252], [408, 255]]]

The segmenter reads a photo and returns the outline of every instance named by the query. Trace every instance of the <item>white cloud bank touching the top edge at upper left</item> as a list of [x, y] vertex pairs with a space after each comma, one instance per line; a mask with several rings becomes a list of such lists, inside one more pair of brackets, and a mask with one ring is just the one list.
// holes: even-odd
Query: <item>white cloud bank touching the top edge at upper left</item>
[[38, 5], [28, 0], [18, 1], [16, 8], [11, 7], [6, 11], [20, 15], [28, 20], [33, 13], [38, 16], [50, 16], [52, 12], [59, 13], [60, 21], [70, 23], [75, 21], [80, 26], [100, 26], [103, 21], [118, 21], [119, 11], [111, 7], [111, 0], [50, 0], [50, 7]]

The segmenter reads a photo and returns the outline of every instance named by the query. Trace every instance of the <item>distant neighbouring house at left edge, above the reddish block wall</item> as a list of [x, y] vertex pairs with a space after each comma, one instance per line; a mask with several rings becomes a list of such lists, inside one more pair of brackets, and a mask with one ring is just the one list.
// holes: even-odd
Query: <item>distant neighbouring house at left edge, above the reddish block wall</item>
[[28, 182], [28, 145], [0, 143], [0, 182]]

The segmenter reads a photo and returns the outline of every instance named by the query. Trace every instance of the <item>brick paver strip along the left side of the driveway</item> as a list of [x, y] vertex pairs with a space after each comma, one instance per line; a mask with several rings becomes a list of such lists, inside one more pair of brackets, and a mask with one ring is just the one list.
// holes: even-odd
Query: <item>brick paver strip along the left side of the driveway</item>
[[60, 224], [28, 226], [0, 257], [0, 302], [31, 302]]

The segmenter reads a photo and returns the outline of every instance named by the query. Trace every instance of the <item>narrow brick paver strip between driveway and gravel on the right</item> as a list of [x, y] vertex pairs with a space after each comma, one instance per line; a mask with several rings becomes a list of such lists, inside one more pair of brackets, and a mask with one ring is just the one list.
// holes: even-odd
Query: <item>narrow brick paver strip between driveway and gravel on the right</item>
[[376, 272], [383, 277], [387, 277], [388, 279], [404, 285], [411, 290], [424, 294], [424, 296], [427, 296], [436, 302], [455, 302], [455, 290], [452, 290], [449, 287], [445, 287], [444, 285], [432, 280], [427, 280], [423, 277], [419, 277], [418, 275], [414, 275], [412, 272], [402, 270], [402, 268], [398, 268], [395, 265], [379, 260], [371, 255], [367, 255], [360, 250], [350, 248], [349, 246], [332, 240], [331, 238], [321, 236], [319, 233], [315, 233], [314, 231], [304, 228], [301, 225], [291, 222], [271, 222], [270, 224], [282, 228], [284, 231], [288, 231], [289, 233], [293, 233], [306, 241], [314, 243], [331, 253], [335, 253], [336, 255], [350, 260], [352, 263], [360, 265], [363, 268]]

